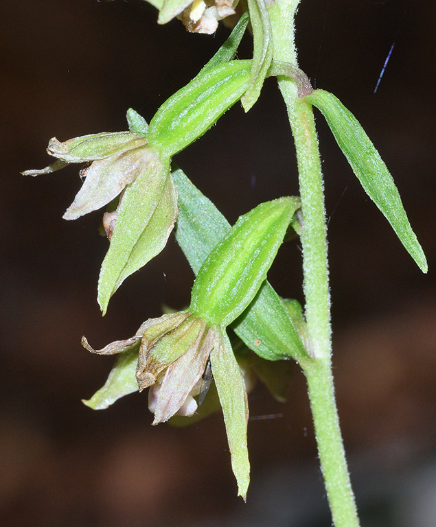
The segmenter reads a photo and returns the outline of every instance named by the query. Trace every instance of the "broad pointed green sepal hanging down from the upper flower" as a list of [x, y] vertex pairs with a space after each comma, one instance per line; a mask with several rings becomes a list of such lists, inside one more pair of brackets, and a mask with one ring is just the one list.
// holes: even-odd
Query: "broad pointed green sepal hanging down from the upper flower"
[[169, 165], [168, 159], [154, 154], [124, 191], [98, 282], [103, 314], [122, 281], [161, 252], [174, 226], [176, 194], [168, 183]]

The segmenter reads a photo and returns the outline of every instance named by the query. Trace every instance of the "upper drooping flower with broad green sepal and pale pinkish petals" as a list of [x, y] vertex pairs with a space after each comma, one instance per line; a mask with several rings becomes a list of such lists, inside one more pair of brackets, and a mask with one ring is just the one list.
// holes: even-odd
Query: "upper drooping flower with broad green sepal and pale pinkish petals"
[[80, 171], [84, 183], [63, 215], [66, 220], [76, 220], [121, 195], [117, 210], [103, 216], [111, 242], [98, 283], [98, 302], [103, 314], [124, 279], [165, 247], [177, 216], [170, 157], [150, 145], [143, 117], [130, 108], [127, 120], [126, 132], [84, 135], [63, 143], [54, 137], [47, 152], [56, 161], [41, 170], [23, 172], [38, 176], [69, 163], [86, 163]]

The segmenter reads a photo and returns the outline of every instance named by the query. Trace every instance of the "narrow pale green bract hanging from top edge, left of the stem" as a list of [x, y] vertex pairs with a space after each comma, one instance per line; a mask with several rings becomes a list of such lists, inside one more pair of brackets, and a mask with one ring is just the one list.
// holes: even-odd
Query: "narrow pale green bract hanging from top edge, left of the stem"
[[246, 112], [259, 98], [268, 69], [273, 59], [273, 41], [271, 23], [265, 0], [248, 0], [251, 27], [253, 27], [253, 66], [250, 73], [250, 84], [241, 102]]

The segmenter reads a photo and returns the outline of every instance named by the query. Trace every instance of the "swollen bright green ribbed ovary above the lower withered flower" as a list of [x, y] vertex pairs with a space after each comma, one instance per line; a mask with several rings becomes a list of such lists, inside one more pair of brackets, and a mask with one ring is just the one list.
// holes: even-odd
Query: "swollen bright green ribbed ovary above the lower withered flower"
[[266, 279], [298, 207], [298, 198], [279, 198], [241, 216], [198, 271], [190, 311], [211, 324], [233, 322]]

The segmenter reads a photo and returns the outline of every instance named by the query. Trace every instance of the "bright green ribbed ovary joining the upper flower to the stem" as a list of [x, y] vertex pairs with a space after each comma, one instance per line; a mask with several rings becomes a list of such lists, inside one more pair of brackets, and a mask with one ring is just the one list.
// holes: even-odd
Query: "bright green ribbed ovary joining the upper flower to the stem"
[[150, 143], [170, 157], [201, 137], [246, 91], [250, 68], [251, 60], [231, 60], [200, 71], [157, 110]]

